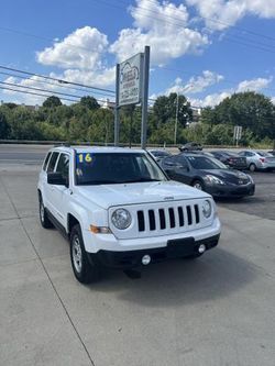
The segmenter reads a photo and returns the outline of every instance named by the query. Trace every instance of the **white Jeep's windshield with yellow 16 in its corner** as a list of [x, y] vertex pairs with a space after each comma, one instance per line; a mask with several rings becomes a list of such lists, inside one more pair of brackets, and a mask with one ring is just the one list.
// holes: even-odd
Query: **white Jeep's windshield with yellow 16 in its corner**
[[79, 153], [76, 156], [77, 185], [108, 185], [167, 180], [143, 153]]

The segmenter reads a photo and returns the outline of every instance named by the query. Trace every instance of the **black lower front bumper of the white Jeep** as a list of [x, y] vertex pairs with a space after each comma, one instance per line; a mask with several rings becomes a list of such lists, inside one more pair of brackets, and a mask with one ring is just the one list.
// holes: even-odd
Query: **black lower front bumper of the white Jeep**
[[220, 234], [200, 241], [195, 241], [194, 237], [185, 237], [169, 241], [167, 246], [164, 247], [127, 252], [99, 251], [97, 254], [88, 255], [92, 255], [92, 260], [96, 259], [101, 265], [130, 269], [142, 266], [142, 257], [144, 255], [150, 255], [151, 263], [157, 263], [172, 258], [191, 256], [198, 253], [198, 247], [201, 244], [205, 244], [206, 251], [209, 251], [218, 245], [219, 237]]

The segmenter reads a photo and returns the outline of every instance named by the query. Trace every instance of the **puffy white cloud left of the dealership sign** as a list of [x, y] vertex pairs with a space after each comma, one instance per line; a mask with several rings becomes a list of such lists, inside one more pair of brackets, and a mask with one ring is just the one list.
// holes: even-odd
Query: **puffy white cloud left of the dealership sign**
[[107, 52], [107, 35], [97, 29], [77, 29], [52, 47], [37, 52], [38, 63], [62, 68], [92, 69], [101, 67], [101, 57]]

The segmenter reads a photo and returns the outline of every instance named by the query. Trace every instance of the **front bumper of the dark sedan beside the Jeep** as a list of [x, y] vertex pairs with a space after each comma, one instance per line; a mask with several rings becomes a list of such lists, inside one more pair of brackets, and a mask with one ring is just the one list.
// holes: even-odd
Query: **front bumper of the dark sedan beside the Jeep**
[[255, 193], [255, 184], [249, 184], [245, 186], [235, 185], [217, 185], [217, 186], [206, 186], [206, 191], [213, 197], [244, 197], [253, 196]]

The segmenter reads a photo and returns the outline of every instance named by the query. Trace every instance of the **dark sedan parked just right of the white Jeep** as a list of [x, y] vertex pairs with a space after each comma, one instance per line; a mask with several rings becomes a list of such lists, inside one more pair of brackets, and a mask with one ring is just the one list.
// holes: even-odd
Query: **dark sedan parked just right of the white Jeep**
[[170, 179], [196, 187], [213, 197], [253, 196], [255, 184], [248, 175], [233, 170], [216, 158], [186, 153], [161, 163]]

